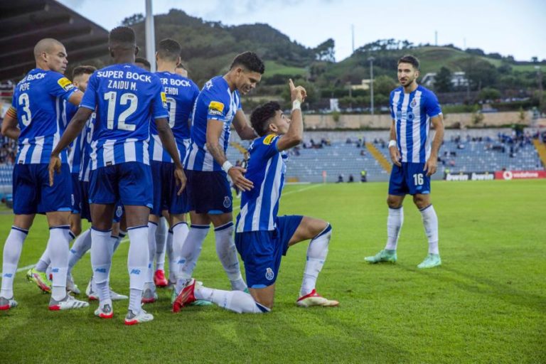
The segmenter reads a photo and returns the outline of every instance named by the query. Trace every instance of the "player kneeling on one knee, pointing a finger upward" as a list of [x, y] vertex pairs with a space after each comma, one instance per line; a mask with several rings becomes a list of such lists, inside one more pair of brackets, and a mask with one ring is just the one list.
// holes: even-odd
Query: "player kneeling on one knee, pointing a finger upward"
[[307, 216], [277, 216], [284, 186], [287, 149], [303, 139], [304, 122], [301, 102], [306, 97], [303, 87], [289, 82], [291, 120], [277, 102], [268, 102], [252, 112], [250, 122], [259, 138], [250, 146], [247, 177], [255, 188], [242, 192], [241, 211], [237, 216], [235, 244], [243, 262], [250, 294], [241, 291], [221, 291], [188, 284], [173, 304], [179, 311], [195, 299], [212, 301], [224, 309], [238, 313], [260, 314], [272, 309], [275, 281], [282, 255], [288, 248], [311, 239], [301, 284], [298, 306], [338, 306], [338, 301], [325, 299], [316, 293], [315, 284], [323, 267], [332, 235], [330, 224]]

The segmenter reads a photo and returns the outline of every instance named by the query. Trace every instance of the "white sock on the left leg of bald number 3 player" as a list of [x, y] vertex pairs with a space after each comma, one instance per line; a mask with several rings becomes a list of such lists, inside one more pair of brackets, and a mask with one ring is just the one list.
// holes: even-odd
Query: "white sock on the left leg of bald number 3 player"
[[26, 235], [28, 235], [28, 230], [12, 226], [4, 244], [0, 296], [5, 299], [11, 299], [14, 296], [14, 278]]

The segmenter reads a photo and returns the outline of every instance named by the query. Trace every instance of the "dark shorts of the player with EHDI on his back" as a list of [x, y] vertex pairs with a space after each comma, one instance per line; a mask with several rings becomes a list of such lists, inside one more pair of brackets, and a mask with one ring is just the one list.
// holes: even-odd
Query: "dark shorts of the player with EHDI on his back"
[[171, 214], [188, 213], [188, 198], [186, 188], [180, 196], [174, 179], [174, 164], [170, 162], [151, 161], [151, 178], [154, 184], [154, 208], [151, 215], [161, 216], [161, 211], [168, 210]]

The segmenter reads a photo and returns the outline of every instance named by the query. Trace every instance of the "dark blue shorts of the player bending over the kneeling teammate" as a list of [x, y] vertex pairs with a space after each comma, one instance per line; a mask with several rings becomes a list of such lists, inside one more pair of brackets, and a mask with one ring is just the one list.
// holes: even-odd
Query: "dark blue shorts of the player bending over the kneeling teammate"
[[224, 171], [203, 172], [185, 170], [188, 183], [188, 209], [196, 213], [231, 213], [233, 198]]

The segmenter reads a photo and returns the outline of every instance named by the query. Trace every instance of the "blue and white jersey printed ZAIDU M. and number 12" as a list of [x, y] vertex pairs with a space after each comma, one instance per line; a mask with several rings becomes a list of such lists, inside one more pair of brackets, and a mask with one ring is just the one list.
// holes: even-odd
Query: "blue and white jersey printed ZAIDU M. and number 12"
[[80, 107], [95, 110], [91, 169], [136, 161], [149, 164], [150, 120], [168, 118], [161, 80], [136, 65], [93, 73]]

